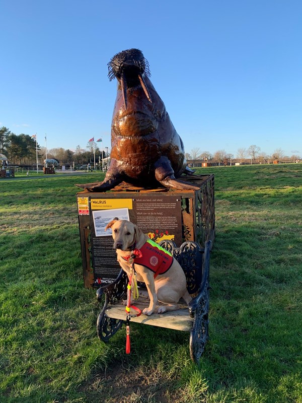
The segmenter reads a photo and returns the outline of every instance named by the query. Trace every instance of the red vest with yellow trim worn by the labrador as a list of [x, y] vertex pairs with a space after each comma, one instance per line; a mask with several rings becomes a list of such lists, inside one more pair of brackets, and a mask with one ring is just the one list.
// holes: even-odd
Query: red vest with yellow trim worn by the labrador
[[[168, 272], [173, 263], [173, 256], [151, 239], [147, 239], [140, 249], [134, 249], [134, 263], [147, 267], [154, 272], [154, 278]], [[123, 257], [129, 260], [130, 256]]]

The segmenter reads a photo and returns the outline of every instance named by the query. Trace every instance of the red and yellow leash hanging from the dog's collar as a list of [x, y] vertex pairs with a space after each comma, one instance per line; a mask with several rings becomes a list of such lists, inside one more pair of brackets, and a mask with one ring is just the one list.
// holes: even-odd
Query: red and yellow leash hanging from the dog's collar
[[[137, 252], [140, 253], [140, 256]], [[130, 274], [129, 274], [129, 282], [128, 282], [128, 286], [127, 286], [127, 306], [126, 306], [126, 354], [130, 354], [130, 318], [132, 317], [138, 317], [141, 315], [141, 310], [139, 308], [137, 308], [134, 305], [131, 305], [131, 285], [132, 285], [132, 276], [134, 276], [134, 292], [133, 292], [133, 297], [134, 299], [138, 298], [138, 289], [137, 289], [137, 282], [136, 282], [136, 273], [134, 270], [134, 259], [135, 257], [141, 257], [141, 252], [137, 249], [135, 249], [131, 255], [127, 258], [126, 260], [129, 261], [130, 265]], [[130, 314], [130, 310], [134, 309], [135, 311], [137, 311], [137, 313], [134, 314]]]

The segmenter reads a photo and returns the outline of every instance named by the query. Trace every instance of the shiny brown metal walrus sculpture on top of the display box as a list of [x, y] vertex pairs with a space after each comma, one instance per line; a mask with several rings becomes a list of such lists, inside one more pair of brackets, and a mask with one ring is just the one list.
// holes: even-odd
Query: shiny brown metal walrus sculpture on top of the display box
[[108, 77], [117, 78], [111, 126], [111, 164], [103, 182], [78, 184], [88, 191], [106, 191], [122, 181], [144, 186], [198, 189], [176, 179], [186, 167], [184, 145], [149, 80], [147, 60], [138, 49], [117, 53], [108, 63]]

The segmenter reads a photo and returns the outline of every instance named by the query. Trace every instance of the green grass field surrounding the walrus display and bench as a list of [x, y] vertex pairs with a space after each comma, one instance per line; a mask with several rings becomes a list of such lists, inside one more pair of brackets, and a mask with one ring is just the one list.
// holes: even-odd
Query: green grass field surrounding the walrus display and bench
[[131, 325], [108, 345], [83, 287], [74, 183], [0, 179], [1, 403], [302, 403], [302, 164], [215, 175], [210, 340]]

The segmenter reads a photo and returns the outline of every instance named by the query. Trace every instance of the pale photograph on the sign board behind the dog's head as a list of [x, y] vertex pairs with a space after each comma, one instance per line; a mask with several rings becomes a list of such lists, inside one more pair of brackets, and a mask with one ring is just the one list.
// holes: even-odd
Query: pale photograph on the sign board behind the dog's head
[[124, 209], [96, 210], [92, 212], [96, 236], [108, 236], [112, 234], [111, 228], [105, 231], [107, 224], [115, 217], [119, 220], [129, 220], [129, 211]]

